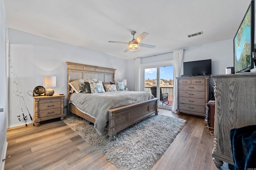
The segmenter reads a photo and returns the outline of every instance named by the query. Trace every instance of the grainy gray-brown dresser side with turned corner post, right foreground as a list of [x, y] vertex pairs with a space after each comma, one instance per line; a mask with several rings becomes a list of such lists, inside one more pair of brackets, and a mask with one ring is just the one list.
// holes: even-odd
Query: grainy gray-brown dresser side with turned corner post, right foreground
[[231, 74], [214, 78], [215, 122], [213, 161], [233, 163], [230, 130], [256, 125], [256, 74]]

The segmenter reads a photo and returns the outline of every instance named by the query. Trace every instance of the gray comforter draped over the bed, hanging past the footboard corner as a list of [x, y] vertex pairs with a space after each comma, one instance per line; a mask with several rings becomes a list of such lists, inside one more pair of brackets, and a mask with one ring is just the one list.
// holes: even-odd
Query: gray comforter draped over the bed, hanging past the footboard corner
[[69, 103], [96, 121], [94, 128], [102, 135], [108, 122], [108, 109], [153, 99], [149, 92], [116, 91], [104, 93], [72, 93]]

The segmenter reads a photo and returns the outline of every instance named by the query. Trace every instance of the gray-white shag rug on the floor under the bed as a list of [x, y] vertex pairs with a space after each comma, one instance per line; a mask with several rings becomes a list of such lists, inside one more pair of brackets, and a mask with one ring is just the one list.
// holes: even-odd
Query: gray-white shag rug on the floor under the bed
[[151, 115], [117, 133], [114, 141], [108, 139], [106, 131], [99, 136], [89, 121], [76, 115], [66, 117], [64, 122], [118, 169], [150, 170], [184, 127], [186, 120]]

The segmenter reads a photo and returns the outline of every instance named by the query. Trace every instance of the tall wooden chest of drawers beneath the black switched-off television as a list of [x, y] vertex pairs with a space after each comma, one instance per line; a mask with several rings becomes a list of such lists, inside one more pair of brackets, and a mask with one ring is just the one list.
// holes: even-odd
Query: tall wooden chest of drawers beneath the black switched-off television
[[210, 76], [177, 77], [177, 112], [205, 117], [205, 104], [209, 101]]

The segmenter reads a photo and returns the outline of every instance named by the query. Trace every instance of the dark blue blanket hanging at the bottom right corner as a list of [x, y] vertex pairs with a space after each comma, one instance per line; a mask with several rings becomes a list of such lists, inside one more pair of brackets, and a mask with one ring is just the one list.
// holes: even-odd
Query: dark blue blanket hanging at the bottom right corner
[[235, 170], [256, 169], [256, 125], [230, 130]]

